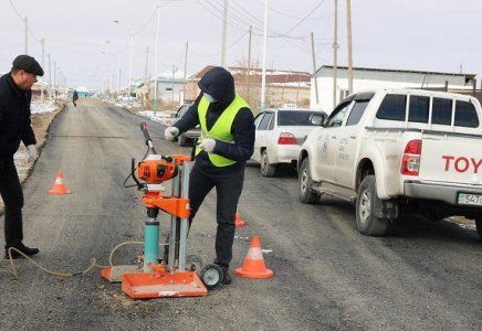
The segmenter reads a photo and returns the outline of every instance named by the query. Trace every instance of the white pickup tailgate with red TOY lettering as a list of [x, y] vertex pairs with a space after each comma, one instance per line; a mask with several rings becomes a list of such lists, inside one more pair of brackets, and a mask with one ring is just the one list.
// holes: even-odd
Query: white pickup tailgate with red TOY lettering
[[434, 182], [482, 184], [482, 139], [425, 137], [419, 178]]

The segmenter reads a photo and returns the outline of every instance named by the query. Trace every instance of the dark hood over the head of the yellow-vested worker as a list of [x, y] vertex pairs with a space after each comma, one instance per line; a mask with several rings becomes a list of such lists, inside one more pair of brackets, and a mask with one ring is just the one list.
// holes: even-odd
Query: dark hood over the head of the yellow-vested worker
[[235, 96], [234, 78], [226, 68], [217, 66], [207, 72], [198, 83], [199, 88], [212, 95], [220, 105], [229, 105]]

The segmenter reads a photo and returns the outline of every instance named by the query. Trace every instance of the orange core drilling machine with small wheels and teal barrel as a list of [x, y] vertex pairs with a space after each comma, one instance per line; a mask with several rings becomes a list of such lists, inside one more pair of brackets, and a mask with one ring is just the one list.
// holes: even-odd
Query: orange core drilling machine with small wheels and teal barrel
[[[222, 280], [222, 270], [217, 265], [202, 267], [202, 260], [186, 256], [189, 231], [189, 173], [192, 156], [160, 156], [154, 148], [145, 122], [140, 124], [148, 151], [137, 164], [132, 160], [130, 175], [144, 194], [140, 200], [147, 207], [144, 256], [138, 265], [112, 266], [102, 270], [111, 282], [122, 281], [123, 290], [133, 299], [160, 297], [206, 296]], [[144, 181], [142, 183], [139, 180]], [[172, 180], [170, 195], [165, 195], [164, 182]], [[169, 256], [167, 263], [159, 259], [159, 210], [170, 215]]]

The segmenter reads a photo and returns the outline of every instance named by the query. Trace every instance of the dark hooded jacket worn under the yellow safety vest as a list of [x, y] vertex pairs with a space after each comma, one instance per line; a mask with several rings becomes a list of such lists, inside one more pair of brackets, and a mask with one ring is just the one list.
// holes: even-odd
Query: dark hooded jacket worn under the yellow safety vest
[[[214, 126], [221, 114], [234, 100], [234, 79], [222, 67], [214, 67], [206, 73], [201, 81], [199, 81], [198, 86], [202, 92], [196, 99], [196, 103], [174, 125], [179, 129], [179, 134], [186, 132], [199, 125], [198, 104], [203, 93], [210, 94], [217, 100], [209, 105], [208, 113], [206, 114], [208, 130]], [[216, 167], [209, 160], [208, 153], [201, 151], [196, 157], [196, 162], [207, 173], [229, 173], [245, 167], [247, 160], [253, 154], [255, 137], [254, 118], [250, 108], [243, 107], [238, 111], [232, 122], [231, 134], [234, 136], [235, 143], [217, 140], [213, 153], [234, 160], [237, 163], [228, 167]]]

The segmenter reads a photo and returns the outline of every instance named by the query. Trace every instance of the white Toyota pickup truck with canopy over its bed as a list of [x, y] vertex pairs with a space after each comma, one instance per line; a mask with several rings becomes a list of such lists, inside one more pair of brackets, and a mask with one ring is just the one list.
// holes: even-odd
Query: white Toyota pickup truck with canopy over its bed
[[298, 157], [300, 199], [356, 204], [360, 233], [381, 236], [401, 212], [475, 220], [482, 237], [482, 109], [470, 96], [381, 89], [345, 98]]

